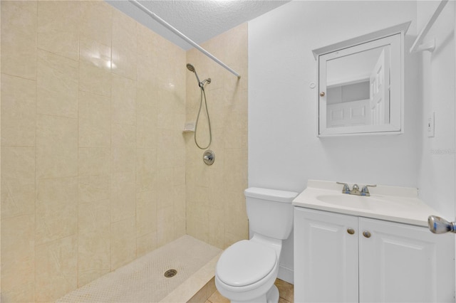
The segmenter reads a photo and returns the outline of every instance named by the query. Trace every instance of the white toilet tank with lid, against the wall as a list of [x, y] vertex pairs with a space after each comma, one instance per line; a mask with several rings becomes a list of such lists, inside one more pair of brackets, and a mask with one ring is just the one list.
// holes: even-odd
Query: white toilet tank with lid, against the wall
[[269, 238], [284, 240], [293, 228], [293, 201], [298, 193], [251, 187], [244, 191], [249, 228]]

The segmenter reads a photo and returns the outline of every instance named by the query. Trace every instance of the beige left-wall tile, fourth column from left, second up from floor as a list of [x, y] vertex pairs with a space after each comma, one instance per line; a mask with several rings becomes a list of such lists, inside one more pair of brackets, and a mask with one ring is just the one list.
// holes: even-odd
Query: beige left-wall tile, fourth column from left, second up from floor
[[[135, 174], [114, 173], [111, 176], [111, 223], [135, 217]], [[135, 234], [136, 236], [136, 234]]]

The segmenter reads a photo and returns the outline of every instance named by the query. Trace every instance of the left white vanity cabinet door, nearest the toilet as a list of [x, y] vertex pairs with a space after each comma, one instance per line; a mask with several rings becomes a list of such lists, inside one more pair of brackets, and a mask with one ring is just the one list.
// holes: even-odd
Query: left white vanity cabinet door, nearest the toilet
[[358, 302], [358, 218], [298, 207], [294, 215], [294, 301]]

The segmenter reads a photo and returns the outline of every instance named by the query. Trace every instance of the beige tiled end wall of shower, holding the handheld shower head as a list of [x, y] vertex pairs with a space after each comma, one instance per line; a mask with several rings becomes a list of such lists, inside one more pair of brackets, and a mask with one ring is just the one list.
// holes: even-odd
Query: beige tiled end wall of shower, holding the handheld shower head
[[[187, 174], [187, 234], [219, 248], [247, 239], [248, 220], [244, 189], [247, 188], [247, 23], [205, 43], [224, 63], [241, 73], [237, 79], [197, 52], [187, 52], [187, 62], [197, 67], [207, 85], [208, 110], [212, 124], [212, 149], [215, 162], [202, 164], [202, 152], [192, 135], [185, 134]], [[187, 121], [195, 121], [199, 90], [195, 76], [187, 73]], [[200, 127], [201, 125], [201, 127]], [[197, 138], [209, 136], [207, 119], [198, 124]]]

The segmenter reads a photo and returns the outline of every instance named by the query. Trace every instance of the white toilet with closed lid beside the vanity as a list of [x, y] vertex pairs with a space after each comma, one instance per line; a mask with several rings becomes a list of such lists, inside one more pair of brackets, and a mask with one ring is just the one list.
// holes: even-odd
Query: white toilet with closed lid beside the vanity
[[279, 272], [282, 240], [293, 228], [292, 191], [247, 188], [250, 240], [222, 252], [215, 269], [215, 286], [231, 302], [279, 302], [274, 282]]

